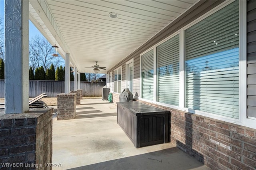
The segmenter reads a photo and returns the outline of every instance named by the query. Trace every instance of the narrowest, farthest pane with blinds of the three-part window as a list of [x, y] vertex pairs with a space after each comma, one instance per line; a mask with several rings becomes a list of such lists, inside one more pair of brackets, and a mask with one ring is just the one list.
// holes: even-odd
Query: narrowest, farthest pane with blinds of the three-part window
[[141, 55], [142, 98], [153, 100], [154, 94], [154, 50]]

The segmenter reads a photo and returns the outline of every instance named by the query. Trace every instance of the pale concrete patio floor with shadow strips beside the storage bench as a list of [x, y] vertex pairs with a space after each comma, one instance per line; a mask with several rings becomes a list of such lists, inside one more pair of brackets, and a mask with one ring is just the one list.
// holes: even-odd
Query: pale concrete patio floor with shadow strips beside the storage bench
[[135, 148], [117, 124], [116, 106], [83, 99], [76, 119], [53, 119], [53, 170], [208, 170], [171, 143]]

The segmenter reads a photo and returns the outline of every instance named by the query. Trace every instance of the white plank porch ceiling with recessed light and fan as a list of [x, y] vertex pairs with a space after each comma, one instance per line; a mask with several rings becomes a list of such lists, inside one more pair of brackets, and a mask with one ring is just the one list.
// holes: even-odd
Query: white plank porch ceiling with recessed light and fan
[[[30, 20], [81, 73], [100, 73], [147, 42], [196, 0], [30, 0]], [[118, 14], [110, 18], [109, 14]]]

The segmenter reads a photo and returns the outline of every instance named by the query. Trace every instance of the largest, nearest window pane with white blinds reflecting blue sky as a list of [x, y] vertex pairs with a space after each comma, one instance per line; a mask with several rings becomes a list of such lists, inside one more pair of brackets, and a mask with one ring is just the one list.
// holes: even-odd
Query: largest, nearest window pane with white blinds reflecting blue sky
[[239, 118], [239, 5], [185, 30], [186, 107]]

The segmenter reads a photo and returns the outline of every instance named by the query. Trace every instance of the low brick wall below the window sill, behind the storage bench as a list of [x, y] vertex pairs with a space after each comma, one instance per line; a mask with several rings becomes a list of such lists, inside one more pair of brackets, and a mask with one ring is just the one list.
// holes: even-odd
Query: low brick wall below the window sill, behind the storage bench
[[256, 169], [256, 129], [146, 103], [171, 112], [171, 142], [211, 169]]

